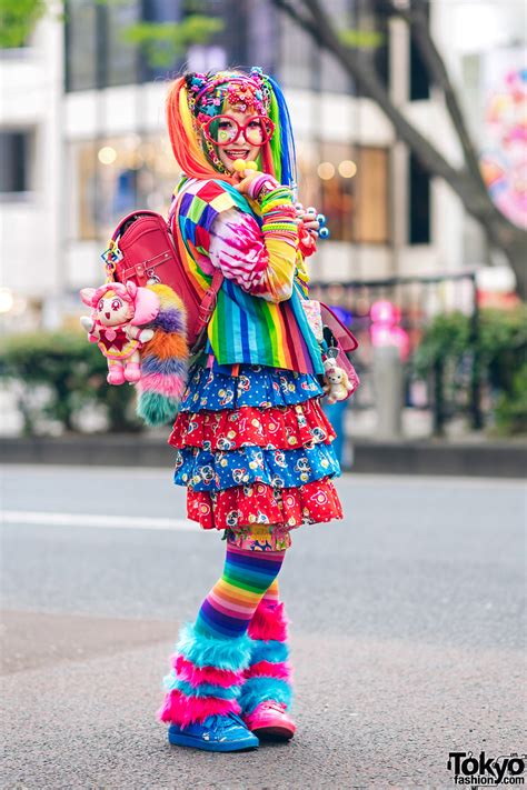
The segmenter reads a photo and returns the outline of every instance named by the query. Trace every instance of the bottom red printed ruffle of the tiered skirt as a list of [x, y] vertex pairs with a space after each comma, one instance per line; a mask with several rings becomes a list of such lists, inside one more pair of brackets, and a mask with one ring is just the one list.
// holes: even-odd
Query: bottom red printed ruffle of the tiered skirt
[[342, 518], [342, 507], [329, 478], [299, 488], [277, 489], [265, 483], [237, 486], [209, 493], [189, 488], [188, 518], [203, 529], [230, 529], [250, 524], [279, 524], [295, 529]]

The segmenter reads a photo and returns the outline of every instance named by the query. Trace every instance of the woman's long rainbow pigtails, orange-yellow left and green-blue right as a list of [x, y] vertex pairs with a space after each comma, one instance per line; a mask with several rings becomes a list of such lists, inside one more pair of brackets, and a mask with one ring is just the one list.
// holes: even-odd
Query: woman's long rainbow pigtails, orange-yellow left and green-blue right
[[[222, 73], [222, 72], [218, 72]], [[249, 76], [243, 71], [226, 72], [226, 82], [230, 77]], [[218, 74], [210, 73], [212, 81]], [[280, 183], [296, 187], [296, 153], [291, 120], [286, 99], [271, 77], [261, 74], [261, 79], [270, 96], [269, 118], [275, 124], [272, 138], [262, 146], [259, 166]], [[218, 107], [218, 114], [223, 111]], [[167, 96], [167, 126], [173, 156], [186, 176], [197, 179], [221, 179], [231, 182], [230, 173], [220, 172], [207, 157], [200, 141], [200, 126], [189, 104], [189, 92], [186, 77], [179, 77], [170, 87]]]

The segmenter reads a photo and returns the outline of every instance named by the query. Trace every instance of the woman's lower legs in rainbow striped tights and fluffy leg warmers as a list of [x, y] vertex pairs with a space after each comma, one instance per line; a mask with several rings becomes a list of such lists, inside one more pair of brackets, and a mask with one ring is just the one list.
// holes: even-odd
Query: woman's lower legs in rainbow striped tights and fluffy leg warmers
[[285, 556], [227, 546], [221, 579], [196, 622], [181, 628], [165, 679], [162, 721], [186, 727], [212, 714], [250, 716], [266, 700], [289, 708], [287, 620], [277, 582]]

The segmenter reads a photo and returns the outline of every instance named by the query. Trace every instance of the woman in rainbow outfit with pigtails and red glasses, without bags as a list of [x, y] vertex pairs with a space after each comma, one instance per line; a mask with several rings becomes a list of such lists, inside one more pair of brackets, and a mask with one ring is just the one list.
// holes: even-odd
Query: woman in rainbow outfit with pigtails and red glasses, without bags
[[320, 348], [302, 308], [318, 224], [297, 217], [289, 114], [260, 69], [186, 74], [167, 117], [185, 171], [172, 209], [180, 253], [199, 293], [225, 278], [170, 437], [175, 481], [189, 518], [225, 532], [227, 557], [181, 630], [160, 718], [171, 743], [235, 751], [295, 732], [277, 577], [292, 529], [341, 518]]

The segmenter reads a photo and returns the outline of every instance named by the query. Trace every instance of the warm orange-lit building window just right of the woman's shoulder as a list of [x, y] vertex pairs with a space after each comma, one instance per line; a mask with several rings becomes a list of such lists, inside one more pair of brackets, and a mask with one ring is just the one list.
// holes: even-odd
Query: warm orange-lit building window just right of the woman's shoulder
[[389, 241], [388, 151], [321, 143], [299, 146], [299, 199], [326, 214], [334, 241]]

